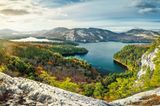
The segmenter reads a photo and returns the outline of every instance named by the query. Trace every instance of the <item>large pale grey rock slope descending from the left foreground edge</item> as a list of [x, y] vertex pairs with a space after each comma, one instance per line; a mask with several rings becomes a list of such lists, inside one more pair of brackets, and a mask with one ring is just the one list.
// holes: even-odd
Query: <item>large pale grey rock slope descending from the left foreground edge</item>
[[25, 78], [0, 73], [0, 106], [108, 106], [97, 100]]

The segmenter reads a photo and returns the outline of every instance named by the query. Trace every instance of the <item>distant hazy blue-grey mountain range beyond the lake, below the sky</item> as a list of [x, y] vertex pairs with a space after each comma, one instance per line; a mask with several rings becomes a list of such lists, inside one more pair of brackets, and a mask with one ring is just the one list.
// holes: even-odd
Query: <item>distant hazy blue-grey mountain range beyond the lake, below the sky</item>
[[63, 27], [51, 30], [18, 32], [10, 29], [0, 30], [0, 38], [16, 39], [22, 37], [41, 37], [57, 40], [68, 40], [83, 43], [90, 42], [151, 42], [160, 32], [144, 29], [132, 29], [123, 33], [116, 33], [105, 29], [98, 28], [74, 28], [68, 29]]

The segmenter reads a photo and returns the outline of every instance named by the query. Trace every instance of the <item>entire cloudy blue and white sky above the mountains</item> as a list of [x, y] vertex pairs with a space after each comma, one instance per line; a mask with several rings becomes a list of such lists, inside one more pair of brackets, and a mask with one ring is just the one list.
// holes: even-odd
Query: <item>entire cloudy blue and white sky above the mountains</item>
[[0, 0], [0, 29], [160, 29], [160, 0]]

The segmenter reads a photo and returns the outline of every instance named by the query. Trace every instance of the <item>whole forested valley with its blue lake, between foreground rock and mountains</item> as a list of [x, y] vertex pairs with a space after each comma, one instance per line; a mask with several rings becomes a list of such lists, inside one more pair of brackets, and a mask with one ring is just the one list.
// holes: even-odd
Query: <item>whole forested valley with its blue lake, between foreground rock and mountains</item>
[[[111, 102], [159, 87], [159, 65], [154, 65], [155, 71], [150, 72], [150, 62], [146, 66], [141, 61], [159, 64], [159, 60], [148, 58], [148, 54], [159, 48], [159, 42], [159, 39], [152, 43], [3, 39], [0, 40], [0, 72]], [[151, 73], [154, 76], [150, 81]]]

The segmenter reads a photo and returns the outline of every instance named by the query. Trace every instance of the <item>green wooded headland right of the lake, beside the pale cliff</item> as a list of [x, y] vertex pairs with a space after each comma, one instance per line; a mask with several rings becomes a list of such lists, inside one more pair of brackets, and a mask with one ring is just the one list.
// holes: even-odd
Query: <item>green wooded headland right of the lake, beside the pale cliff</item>
[[130, 70], [137, 70], [142, 55], [149, 49], [149, 45], [127, 45], [114, 55], [114, 60], [127, 66]]

